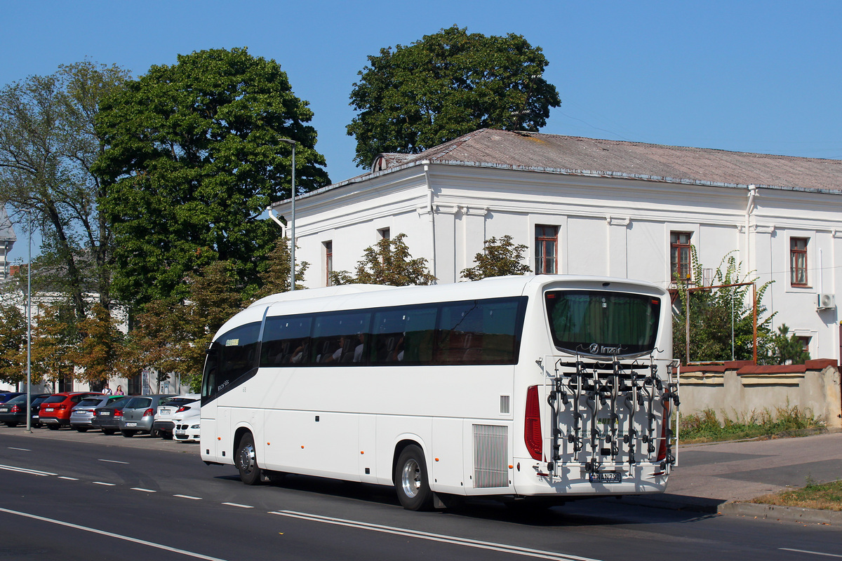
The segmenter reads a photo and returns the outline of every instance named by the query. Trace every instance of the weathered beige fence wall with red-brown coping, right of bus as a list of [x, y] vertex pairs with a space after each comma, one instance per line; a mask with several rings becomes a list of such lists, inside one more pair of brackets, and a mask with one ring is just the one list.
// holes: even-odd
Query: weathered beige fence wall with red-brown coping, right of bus
[[842, 385], [835, 360], [809, 360], [806, 364], [757, 366], [751, 362], [681, 367], [680, 415], [706, 409], [722, 420], [749, 419], [765, 412], [797, 406], [824, 421], [831, 429], [842, 428]]

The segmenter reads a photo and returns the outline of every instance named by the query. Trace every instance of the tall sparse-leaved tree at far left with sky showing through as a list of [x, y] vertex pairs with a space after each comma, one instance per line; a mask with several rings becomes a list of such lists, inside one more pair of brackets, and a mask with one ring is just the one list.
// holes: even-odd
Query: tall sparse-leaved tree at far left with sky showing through
[[118, 66], [83, 61], [0, 90], [0, 201], [18, 223], [40, 228], [39, 271], [52, 292], [67, 294], [77, 320], [88, 311], [85, 293], [111, 304], [114, 238], [97, 204], [105, 185], [92, 165], [103, 143], [93, 123], [100, 100], [127, 78]]

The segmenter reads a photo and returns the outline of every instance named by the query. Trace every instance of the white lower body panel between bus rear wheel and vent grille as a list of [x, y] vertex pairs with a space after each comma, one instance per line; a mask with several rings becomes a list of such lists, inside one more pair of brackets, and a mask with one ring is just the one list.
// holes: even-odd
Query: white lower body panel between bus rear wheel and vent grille
[[427, 458], [432, 463], [429, 486], [438, 493], [465, 495], [465, 479], [462, 464], [465, 463], [466, 450], [462, 439], [461, 419], [434, 417], [433, 434], [430, 439], [430, 454]]

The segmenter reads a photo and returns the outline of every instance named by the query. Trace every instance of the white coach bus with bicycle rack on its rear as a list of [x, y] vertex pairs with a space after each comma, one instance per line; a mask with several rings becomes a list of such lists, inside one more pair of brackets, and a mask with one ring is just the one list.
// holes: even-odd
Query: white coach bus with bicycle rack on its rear
[[669, 295], [541, 275], [260, 299], [208, 349], [201, 457], [394, 485], [422, 510], [662, 492], [677, 405]]

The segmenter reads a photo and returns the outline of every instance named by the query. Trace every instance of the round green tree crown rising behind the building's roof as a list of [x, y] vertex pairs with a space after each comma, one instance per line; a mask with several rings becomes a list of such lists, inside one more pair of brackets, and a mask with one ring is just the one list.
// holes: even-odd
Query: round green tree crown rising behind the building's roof
[[369, 56], [351, 91], [354, 161], [417, 154], [473, 130], [537, 131], [561, 101], [541, 74], [541, 47], [521, 35], [468, 34], [456, 25]]

